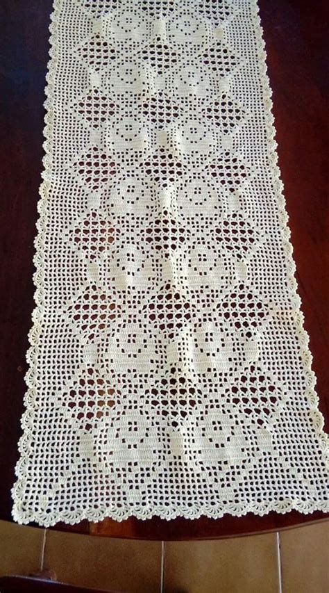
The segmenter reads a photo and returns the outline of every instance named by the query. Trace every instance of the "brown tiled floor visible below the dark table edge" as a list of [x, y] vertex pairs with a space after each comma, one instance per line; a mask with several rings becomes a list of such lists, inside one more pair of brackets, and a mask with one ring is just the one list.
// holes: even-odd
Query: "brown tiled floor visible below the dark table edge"
[[162, 546], [0, 521], [0, 575], [43, 564], [66, 583], [125, 593], [328, 593], [329, 521], [283, 531], [279, 541], [281, 583], [276, 533]]

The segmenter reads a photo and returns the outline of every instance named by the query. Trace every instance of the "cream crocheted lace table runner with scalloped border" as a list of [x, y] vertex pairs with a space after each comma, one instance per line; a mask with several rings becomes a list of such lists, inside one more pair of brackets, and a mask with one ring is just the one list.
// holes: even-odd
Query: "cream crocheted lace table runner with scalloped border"
[[327, 508], [255, 0], [55, 0], [19, 522]]

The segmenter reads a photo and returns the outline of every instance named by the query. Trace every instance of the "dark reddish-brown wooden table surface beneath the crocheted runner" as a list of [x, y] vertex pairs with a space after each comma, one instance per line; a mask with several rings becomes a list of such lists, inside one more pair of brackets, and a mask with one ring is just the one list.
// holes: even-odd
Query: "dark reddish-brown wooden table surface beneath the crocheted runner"
[[[328, 0], [259, 0], [273, 89], [279, 165], [285, 184], [299, 293], [310, 334], [319, 407], [328, 430]], [[42, 170], [44, 76], [51, 0], [1, 0], [0, 518], [11, 520], [25, 353], [33, 310], [33, 238]], [[326, 399], [327, 394], [327, 399]], [[56, 528], [111, 537], [197, 539], [277, 530], [325, 518], [321, 512], [194, 521], [155, 517], [82, 521]]]

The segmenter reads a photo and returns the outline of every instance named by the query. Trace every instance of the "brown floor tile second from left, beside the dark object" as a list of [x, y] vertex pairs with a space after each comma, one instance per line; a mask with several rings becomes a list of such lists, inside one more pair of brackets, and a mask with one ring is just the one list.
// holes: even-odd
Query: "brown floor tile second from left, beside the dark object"
[[160, 591], [161, 542], [48, 531], [44, 567], [58, 580], [125, 593]]

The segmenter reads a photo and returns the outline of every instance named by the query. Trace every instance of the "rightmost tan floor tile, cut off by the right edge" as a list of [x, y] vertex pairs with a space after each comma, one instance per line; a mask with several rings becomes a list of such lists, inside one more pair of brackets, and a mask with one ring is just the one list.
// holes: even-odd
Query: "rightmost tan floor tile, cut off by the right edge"
[[283, 593], [329, 592], [329, 521], [280, 533]]

